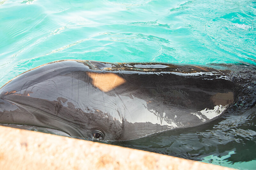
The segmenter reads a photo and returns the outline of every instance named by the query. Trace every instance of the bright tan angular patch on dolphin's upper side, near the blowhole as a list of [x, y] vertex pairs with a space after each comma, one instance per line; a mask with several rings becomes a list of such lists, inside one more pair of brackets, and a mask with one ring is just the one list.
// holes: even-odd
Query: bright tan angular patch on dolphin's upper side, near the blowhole
[[103, 92], [108, 92], [125, 83], [125, 80], [114, 73], [87, 72], [92, 79], [93, 86]]

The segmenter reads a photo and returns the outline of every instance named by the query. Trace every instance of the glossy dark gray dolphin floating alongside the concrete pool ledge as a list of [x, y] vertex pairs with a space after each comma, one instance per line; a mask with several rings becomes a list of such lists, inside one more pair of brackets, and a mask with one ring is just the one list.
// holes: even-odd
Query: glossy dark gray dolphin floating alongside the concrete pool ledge
[[60, 60], [0, 89], [0, 124], [88, 140], [129, 140], [206, 124], [234, 96], [229, 71]]

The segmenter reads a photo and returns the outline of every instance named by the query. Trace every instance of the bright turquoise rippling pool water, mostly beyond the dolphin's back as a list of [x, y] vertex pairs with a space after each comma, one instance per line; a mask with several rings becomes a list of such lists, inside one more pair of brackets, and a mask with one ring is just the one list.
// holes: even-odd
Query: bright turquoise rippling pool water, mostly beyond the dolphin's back
[[[0, 87], [62, 59], [256, 65], [255, 46], [255, 0], [0, 1]], [[256, 169], [226, 157], [203, 161]]]

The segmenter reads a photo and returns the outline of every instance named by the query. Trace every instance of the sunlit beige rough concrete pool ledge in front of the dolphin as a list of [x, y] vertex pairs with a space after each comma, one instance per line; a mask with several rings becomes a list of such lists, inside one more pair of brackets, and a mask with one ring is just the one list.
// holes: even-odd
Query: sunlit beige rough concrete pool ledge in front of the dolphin
[[1, 169], [231, 168], [115, 145], [0, 126]]

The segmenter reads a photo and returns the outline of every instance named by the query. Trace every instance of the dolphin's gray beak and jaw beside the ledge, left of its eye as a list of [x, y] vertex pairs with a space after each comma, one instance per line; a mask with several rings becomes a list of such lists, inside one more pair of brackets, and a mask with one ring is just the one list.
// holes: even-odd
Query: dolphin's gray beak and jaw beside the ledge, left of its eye
[[[3, 106], [3, 104], [6, 103], [11, 105], [16, 110], [13, 109], [10, 113], [5, 113], [4, 111], [6, 110], [4, 110], [5, 106]], [[0, 98], [0, 104], [2, 104], [0, 107], [0, 125], [16, 128], [23, 126], [22, 129], [30, 131], [85, 138], [78, 128], [75, 128], [72, 124], [61, 117], [52, 115], [44, 108], [38, 108], [36, 106], [28, 105], [27, 103], [23, 102], [17, 102], [12, 99]], [[17, 112], [18, 110], [22, 110], [22, 112]], [[12, 118], [9, 120], [1, 119], [1, 116], [4, 114], [10, 114], [10, 117]], [[22, 114], [26, 116], [23, 116]], [[24, 117], [27, 119], [24, 119]], [[51, 121], [54, 123], [50, 124]]]

